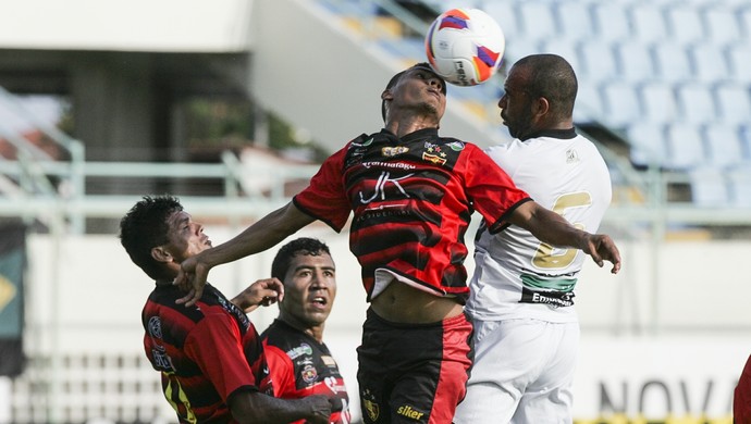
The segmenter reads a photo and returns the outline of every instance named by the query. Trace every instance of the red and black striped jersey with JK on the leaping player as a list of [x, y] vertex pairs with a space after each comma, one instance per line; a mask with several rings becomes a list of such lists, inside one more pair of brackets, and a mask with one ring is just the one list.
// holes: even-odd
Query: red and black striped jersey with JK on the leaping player
[[293, 199], [340, 232], [354, 212], [349, 249], [368, 300], [392, 278], [466, 299], [465, 232], [473, 211], [491, 232], [529, 196], [477, 146], [426, 128], [397, 138], [361, 135], [331, 155]]

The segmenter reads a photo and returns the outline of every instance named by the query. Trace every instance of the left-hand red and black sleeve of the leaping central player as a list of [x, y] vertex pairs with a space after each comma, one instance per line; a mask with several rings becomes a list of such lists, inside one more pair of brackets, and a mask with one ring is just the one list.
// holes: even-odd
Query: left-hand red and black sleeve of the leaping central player
[[352, 210], [344, 186], [344, 158], [347, 147], [327, 159], [310, 185], [293, 198], [304, 213], [341, 232]]

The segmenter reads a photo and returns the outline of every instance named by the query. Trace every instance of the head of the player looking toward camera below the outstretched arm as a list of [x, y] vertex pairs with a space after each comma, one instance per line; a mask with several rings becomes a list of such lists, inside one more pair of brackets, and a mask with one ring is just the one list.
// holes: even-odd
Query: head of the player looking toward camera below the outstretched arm
[[307, 237], [290, 241], [276, 252], [271, 276], [284, 284], [280, 319], [299, 329], [322, 328], [336, 297], [336, 266], [329, 247]]

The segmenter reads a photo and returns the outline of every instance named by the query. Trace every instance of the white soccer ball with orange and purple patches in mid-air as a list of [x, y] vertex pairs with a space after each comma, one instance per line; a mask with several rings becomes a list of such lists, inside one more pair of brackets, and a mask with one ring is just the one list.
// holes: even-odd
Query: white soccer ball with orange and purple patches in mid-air
[[426, 35], [428, 63], [457, 86], [475, 86], [490, 79], [498, 70], [505, 48], [501, 26], [479, 9], [443, 12]]

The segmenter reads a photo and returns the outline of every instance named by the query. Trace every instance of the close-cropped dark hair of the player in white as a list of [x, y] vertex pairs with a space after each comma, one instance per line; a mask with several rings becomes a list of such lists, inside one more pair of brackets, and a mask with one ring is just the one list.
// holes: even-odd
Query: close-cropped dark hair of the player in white
[[571, 115], [579, 86], [566, 59], [552, 53], [530, 54], [519, 59], [514, 66], [530, 71], [526, 89], [533, 96], [547, 99], [553, 114], [558, 117]]

